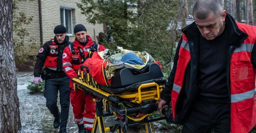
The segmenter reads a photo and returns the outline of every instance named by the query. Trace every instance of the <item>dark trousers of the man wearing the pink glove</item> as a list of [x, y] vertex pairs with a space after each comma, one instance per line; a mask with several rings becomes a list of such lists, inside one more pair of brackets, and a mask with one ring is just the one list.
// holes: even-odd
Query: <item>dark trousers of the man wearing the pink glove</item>
[[[60, 92], [61, 113], [57, 107], [58, 91]], [[66, 129], [70, 105], [69, 78], [56, 77], [46, 79], [44, 97], [46, 98], [46, 107], [54, 118], [60, 118], [60, 129]]]

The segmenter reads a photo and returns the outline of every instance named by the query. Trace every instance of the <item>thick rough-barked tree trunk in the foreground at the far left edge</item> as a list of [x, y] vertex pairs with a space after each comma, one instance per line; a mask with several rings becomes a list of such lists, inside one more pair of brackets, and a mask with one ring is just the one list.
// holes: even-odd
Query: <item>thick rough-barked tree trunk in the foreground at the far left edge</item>
[[21, 129], [12, 43], [12, 0], [0, 0], [0, 132]]

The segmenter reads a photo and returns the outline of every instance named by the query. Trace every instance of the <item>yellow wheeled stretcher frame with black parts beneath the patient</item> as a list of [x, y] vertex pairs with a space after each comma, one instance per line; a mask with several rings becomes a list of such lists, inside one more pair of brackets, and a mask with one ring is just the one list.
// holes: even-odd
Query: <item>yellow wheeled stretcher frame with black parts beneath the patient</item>
[[[155, 68], [154, 72], [157, 72]], [[88, 68], [81, 67], [80, 70], [81, 73], [78, 73], [77, 78], [72, 78], [72, 81], [75, 91], [81, 89], [85, 93], [91, 93], [95, 100], [96, 116], [92, 133], [96, 133], [98, 126], [100, 133], [113, 133], [115, 131], [126, 133], [127, 127], [138, 125], [145, 125], [146, 132], [152, 133], [150, 122], [166, 119], [166, 117], [149, 118], [157, 110], [155, 101], [160, 99], [160, 93], [163, 90], [162, 85], [165, 83], [164, 78], [141, 81], [121, 88], [111, 88], [100, 85], [93, 80]], [[84, 71], [87, 72], [85, 75], [83, 74]], [[141, 77], [143, 78], [143, 76]], [[148, 79], [148, 77], [144, 77]], [[124, 81], [120, 80], [120, 82], [123, 83]], [[103, 117], [112, 115], [116, 116], [115, 125], [105, 127]]]

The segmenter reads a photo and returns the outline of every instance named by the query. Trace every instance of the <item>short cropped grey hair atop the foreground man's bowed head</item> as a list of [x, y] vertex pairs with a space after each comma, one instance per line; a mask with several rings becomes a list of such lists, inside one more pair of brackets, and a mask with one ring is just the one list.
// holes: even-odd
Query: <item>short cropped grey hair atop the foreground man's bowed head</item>
[[219, 0], [198, 0], [193, 8], [193, 16], [197, 19], [207, 19], [209, 14], [221, 15], [223, 8]]

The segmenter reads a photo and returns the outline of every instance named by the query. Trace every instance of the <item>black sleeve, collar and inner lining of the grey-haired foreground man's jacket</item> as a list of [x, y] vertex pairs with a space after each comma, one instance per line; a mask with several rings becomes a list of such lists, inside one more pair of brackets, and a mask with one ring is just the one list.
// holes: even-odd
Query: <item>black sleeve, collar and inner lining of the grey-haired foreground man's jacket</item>
[[[229, 92], [229, 99], [230, 94], [230, 59], [232, 53], [234, 52], [235, 48], [240, 47], [241, 43], [248, 37], [248, 35], [241, 30], [239, 30], [238, 26], [235, 23], [235, 20], [227, 14], [226, 21], [229, 34], [229, 51], [228, 53], [228, 60], [227, 60], [227, 87]], [[176, 112], [179, 112], [178, 117], [174, 121], [174, 123], [182, 124], [184, 118], [186, 118], [186, 114], [193, 103], [197, 92], [198, 92], [198, 82], [197, 82], [197, 73], [198, 73], [198, 62], [199, 62], [199, 38], [200, 38], [200, 31], [198, 30], [195, 22], [188, 25], [182, 32], [186, 35], [189, 43], [189, 49], [191, 54], [191, 60], [185, 70], [184, 81], [183, 81], [183, 88], [180, 92], [178, 101], [176, 103]], [[256, 35], [255, 35], [256, 36]], [[176, 54], [174, 57], [174, 64], [172, 71], [168, 77], [168, 82], [165, 84], [165, 88], [161, 93], [161, 98], [165, 101], [170, 101], [171, 91], [174, 83], [174, 75], [176, 72], [177, 62], [178, 62], [178, 54], [179, 49], [181, 46], [182, 38], [179, 41], [178, 47], [176, 49]], [[256, 45], [256, 43], [255, 43]], [[254, 68], [256, 68], [256, 47], [253, 47], [251, 53], [251, 62]]]

